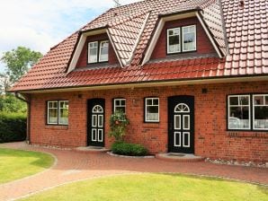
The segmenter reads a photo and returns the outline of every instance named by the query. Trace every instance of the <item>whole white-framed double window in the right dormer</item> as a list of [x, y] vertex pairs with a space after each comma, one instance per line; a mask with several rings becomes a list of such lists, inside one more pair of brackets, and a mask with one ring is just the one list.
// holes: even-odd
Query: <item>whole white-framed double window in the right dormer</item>
[[195, 51], [196, 26], [191, 25], [168, 29], [166, 49], [167, 54]]

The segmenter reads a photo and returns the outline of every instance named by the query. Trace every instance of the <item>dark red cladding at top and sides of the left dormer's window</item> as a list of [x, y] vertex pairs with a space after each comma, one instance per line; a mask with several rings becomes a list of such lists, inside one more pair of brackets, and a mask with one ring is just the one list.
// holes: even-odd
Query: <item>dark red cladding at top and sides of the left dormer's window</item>
[[[95, 35], [95, 36], [89, 36], [85, 40], [84, 48], [82, 49], [81, 55], [77, 61], [76, 67], [85, 67], [87, 65], [87, 44], [92, 41], [96, 40], [105, 40], [108, 39], [108, 35], [106, 33]], [[109, 39], [108, 39], [109, 40]], [[119, 64], [118, 59], [116, 57], [115, 52], [113, 51], [112, 44], [109, 43], [109, 60], [108, 63], [110, 65]]]

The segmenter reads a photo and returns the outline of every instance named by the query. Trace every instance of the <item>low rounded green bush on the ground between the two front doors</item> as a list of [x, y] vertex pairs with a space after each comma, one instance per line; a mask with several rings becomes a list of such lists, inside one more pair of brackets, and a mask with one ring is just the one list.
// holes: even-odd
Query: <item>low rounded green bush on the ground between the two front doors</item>
[[147, 149], [141, 144], [114, 143], [112, 144], [112, 153], [130, 156], [147, 155]]

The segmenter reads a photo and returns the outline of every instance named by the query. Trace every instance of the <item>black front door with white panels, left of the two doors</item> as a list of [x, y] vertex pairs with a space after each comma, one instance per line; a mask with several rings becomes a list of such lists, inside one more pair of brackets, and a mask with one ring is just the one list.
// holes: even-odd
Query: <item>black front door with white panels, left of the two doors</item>
[[104, 99], [88, 100], [87, 145], [104, 146]]

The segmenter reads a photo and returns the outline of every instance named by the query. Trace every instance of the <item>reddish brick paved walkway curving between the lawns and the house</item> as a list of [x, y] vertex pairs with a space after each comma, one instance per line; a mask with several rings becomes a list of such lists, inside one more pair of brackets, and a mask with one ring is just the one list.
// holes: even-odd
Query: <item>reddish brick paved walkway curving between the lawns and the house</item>
[[164, 162], [157, 159], [114, 157], [106, 153], [33, 147], [24, 143], [0, 144], [23, 150], [52, 153], [58, 162], [35, 176], [0, 185], [0, 200], [13, 200], [78, 179], [92, 179], [131, 172], [179, 172], [240, 179], [268, 185], [268, 169], [212, 164], [210, 162]]

